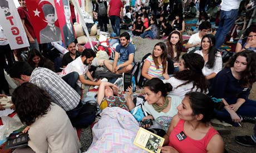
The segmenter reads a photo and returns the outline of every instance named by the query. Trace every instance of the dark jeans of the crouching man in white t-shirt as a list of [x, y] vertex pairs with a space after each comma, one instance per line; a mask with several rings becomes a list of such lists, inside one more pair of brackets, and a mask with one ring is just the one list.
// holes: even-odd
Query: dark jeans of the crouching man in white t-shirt
[[81, 88], [76, 84], [76, 81], [79, 79], [79, 74], [77, 72], [68, 73], [67, 75], [63, 76], [62, 79], [73, 89], [75, 89], [79, 95], [81, 95]]

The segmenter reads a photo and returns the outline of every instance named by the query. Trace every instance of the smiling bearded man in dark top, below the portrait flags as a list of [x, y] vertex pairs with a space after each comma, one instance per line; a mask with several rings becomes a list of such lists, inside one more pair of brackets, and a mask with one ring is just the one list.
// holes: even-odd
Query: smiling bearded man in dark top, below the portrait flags
[[62, 58], [63, 68], [66, 68], [68, 63], [71, 63], [73, 60], [75, 60], [76, 58], [80, 57], [80, 55], [81, 55], [81, 53], [78, 52], [78, 50], [76, 50], [76, 43], [75, 42], [69, 44], [67, 46], [67, 50], [69, 52], [64, 54], [63, 58]]

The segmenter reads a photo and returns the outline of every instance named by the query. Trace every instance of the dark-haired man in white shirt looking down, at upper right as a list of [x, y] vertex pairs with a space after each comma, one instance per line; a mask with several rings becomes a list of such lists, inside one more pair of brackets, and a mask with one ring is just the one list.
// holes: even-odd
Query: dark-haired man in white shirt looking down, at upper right
[[204, 35], [208, 34], [211, 31], [211, 24], [208, 21], [204, 21], [199, 25], [199, 32], [191, 35], [189, 38], [188, 44], [186, 44], [186, 49], [188, 53], [194, 53], [196, 50], [200, 49], [201, 39]]

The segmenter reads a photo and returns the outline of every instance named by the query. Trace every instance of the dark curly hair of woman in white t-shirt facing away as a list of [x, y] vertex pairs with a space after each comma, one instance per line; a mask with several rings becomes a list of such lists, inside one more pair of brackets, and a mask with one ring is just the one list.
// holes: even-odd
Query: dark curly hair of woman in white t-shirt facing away
[[[193, 82], [193, 88], [195, 86], [201, 90], [201, 92], [206, 93], [208, 91], [208, 81], [205, 79], [205, 76], [202, 72], [204, 68], [204, 59], [201, 55], [196, 53], [184, 54], [182, 56], [184, 60], [185, 70], [174, 73], [174, 77], [179, 80], [184, 80], [185, 83], [180, 84], [176, 88], [179, 88], [182, 85], [186, 85], [190, 82]], [[196, 91], [198, 90], [196, 89]]]

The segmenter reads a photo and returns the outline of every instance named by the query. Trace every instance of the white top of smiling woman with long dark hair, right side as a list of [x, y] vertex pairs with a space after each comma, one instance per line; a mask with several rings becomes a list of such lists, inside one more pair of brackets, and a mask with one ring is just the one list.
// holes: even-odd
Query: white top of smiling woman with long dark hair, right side
[[[202, 50], [196, 50], [194, 53], [197, 53], [201, 55], [204, 58], [203, 51]], [[217, 52], [217, 56], [215, 56], [215, 63], [213, 65], [213, 68], [209, 69], [206, 67], [206, 63], [208, 61], [204, 62], [204, 68], [202, 69], [202, 72], [205, 76], [210, 75], [211, 73], [219, 73], [222, 69], [222, 57], [220, 52]]]

